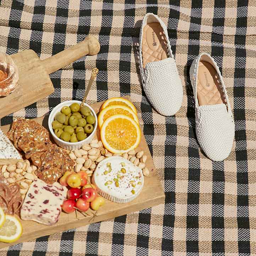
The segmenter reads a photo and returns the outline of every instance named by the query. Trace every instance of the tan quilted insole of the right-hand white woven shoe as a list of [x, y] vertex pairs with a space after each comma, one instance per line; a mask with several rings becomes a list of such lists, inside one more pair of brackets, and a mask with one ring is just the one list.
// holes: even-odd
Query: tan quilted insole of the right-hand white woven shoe
[[225, 104], [216, 69], [211, 63], [199, 61], [197, 76], [197, 99], [199, 106]]

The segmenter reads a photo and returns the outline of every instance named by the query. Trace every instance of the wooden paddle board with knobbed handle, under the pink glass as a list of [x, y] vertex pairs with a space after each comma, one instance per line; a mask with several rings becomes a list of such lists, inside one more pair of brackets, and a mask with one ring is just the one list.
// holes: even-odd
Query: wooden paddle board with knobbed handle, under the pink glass
[[49, 74], [84, 55], [95, 55], [99, 51], [99, 41], [93, 35], [88, 35], [77, 45], [45, 60], [40, 60], [33, 50], [24, 50], [11, 55], [18, 67], [20, 80], [13, 93], [0, 97], [0, 118], [53, 93], [54, 87]]

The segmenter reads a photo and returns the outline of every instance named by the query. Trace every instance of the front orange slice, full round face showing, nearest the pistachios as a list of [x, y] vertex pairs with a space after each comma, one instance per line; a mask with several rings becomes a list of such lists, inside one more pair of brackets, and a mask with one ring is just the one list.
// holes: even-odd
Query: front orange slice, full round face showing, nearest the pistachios
[[126, 115], [108, 117], [100, 129], [104, 147], [114, 153], [122, 154], [137, 148], [141, 139], [139, 124]]

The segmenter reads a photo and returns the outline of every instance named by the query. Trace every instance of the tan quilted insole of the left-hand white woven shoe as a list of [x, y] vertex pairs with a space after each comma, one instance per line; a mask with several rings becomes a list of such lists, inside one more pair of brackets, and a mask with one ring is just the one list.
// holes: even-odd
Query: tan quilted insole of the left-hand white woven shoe
[[141, 48], [143, 68], [145, 68], [148, 62], [167, 58], [168, 45], [165, 32], [163, 32], [160, 23], [151, 22], [143, 28]]

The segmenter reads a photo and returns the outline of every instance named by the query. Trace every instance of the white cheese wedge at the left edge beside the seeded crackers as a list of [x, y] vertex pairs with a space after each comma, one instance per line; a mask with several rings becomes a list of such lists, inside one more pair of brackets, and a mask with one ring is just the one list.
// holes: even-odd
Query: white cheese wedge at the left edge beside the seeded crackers
[[22, 159], [20, 153], [0, 130], [0, 159]]

